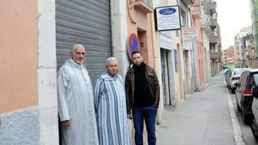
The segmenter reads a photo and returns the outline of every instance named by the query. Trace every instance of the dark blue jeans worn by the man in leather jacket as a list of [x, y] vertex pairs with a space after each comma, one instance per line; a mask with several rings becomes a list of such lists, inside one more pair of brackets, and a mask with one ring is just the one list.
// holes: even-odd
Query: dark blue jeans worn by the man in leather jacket
[[135, 144], [143, 145], [143, 120], [145, 120], [146, 130], [148, 134], [148, 144], [156, 144], [155, 124], [157, 116], [157, 108], [154, 105], [147, 107], [134, 107], [133, 108], [133, 123], [135, 129]]

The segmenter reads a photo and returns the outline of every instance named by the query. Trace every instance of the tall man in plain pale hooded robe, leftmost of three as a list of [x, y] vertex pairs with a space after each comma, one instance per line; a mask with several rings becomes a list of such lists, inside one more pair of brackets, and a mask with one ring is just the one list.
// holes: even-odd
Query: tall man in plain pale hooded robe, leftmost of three
[[74, 45], [58, 71], [58, 113], [64, 145], [98, 145], [94, 96], [91, 80], [82, 62], [85, 48]]

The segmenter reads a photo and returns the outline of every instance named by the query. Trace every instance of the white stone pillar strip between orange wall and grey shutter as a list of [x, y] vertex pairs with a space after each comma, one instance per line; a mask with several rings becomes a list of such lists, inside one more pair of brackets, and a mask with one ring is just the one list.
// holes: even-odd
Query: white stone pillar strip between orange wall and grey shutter
[[40, 144], [59, 144], [55, 36], [55, 1], [38, 0]]

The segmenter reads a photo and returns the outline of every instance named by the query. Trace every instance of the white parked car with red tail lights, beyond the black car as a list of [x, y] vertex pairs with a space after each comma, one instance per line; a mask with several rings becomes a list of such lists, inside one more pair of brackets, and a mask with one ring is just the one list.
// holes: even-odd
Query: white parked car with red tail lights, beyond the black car
[[235, 83], [237, 83], [239, 81], [239, 78], [241, 76], [241, 74], [246, 71], [246, 70], [250, 70], [252, 68], [238, 68], [238, 69], [233, 69], [230, 75], [230, 88], [231, 88], [231, 93], [235, 93], [236, 90], [236, 86]]

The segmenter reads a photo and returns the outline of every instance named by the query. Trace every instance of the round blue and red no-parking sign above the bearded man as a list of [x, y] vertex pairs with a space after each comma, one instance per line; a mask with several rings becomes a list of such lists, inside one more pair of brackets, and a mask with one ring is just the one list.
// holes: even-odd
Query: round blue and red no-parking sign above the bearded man
[[128, 38], [127, 50], [128, 50], [128, 55], [129, 55], [131, 60], [132, 60], [132, 58], [131, 58], [132, 52], [134, 52], [134, 51], [139, 51], [140, 52], [139, 40], [138, 40], [138, 37], [135, 33], [132, 33]]

